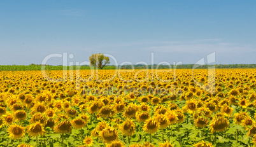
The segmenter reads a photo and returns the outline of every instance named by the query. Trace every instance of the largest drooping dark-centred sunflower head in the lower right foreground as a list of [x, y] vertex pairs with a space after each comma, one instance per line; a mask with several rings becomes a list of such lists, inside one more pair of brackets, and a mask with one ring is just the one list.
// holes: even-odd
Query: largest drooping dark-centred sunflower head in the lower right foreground
[[223, 116], [215, 118], [210, 123], [211, 133], [221, 132], [229, 127], [229, 121]]

